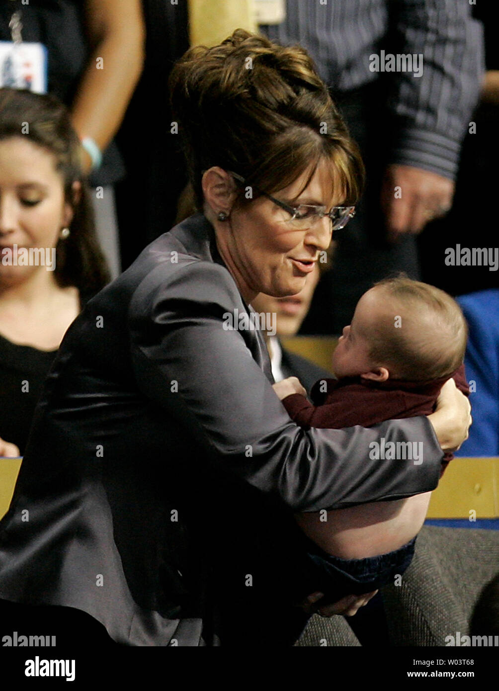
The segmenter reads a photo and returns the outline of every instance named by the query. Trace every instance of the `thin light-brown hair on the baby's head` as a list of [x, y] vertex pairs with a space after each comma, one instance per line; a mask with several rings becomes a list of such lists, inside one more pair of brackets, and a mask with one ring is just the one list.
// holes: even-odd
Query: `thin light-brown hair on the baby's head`
[[[414, 316], [401, 317], [401, 328], [394, 328], [393, 319], [379, 323], [370, 333], [370, 357], [376, 363], [388, 363], [397, 378], [408, 381], [429, 381], [448, 377], [464, 359], [468, 337], [466, 320], [458, 303], [440, 288], [413, 281], [404, 274], [384, 278], [373, 287], [386, 292], [393, 304], [393, 317], [400, 316], [399, 307], [410, 307]], [[390, 300], [391, 299], [391, 300]], [[409, 333], [404, 321], [418, 325], [416, 319], [426, 316], [434, 330], [420, 328]]]

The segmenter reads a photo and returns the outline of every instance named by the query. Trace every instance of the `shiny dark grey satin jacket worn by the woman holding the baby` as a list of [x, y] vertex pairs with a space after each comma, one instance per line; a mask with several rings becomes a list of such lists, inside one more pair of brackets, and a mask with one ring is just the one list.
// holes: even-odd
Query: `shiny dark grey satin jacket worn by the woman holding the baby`
[[[87, 303], [1, 524], [1, 598], [82, 609], [131, 645], [241, 645], [289, 609], [283, 574], [263, 567], [282, 517], [435, 488], [426, 417], [305, 433], [272, 390], [261, 334], [229, 330], [235, 309], [201, 214]], [[424, 442], [424, 464], [370, 460], [379, 437]], [[270, 645], [285, 637], [276, 625]]]

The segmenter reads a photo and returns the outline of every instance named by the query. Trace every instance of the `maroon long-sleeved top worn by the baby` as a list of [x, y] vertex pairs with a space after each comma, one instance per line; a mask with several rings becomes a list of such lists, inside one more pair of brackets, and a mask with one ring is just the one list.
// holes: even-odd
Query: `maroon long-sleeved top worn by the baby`
[[[451, 377], [467, 396], [469, 387], [461, 365]], [[431, 415], [440, 389], [450, 377], [432, 381], [388, 379], [381, 383], [361, 377], [320, 379], [310, 392], [312, 403], [298, 393], [283, 399], [283, 405], [294, 422], [301, 427], [342, 429], [361, 425], [371, 427], [385, 420]], [[326, 389], [326, 391], [321, 391]], [[453, 454], [446, 453], [442, 473]]]

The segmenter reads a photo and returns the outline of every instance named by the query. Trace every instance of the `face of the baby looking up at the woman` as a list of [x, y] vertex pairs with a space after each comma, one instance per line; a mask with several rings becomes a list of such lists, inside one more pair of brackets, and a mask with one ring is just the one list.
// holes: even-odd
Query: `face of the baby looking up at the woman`
[[379, 289], [371, 288], [357, 303], [352, 323], [343, 329], [343, 335], [332, 354], [332, 370], [338, 379], [359, 377], [375, 366], [369, 357], [369, 334], [381, 314], [382, 294]]

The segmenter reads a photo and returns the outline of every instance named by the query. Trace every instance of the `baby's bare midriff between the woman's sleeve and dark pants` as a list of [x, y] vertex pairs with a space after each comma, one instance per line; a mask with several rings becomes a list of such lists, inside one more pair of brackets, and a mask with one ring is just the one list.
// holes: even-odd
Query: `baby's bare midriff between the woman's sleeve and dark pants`
[[361, 504], [349, 509], [296, 513], [303, 532], [328, 554], [364, 559], [399, 549], [419, 533], [431, 492], [393, 502]]

